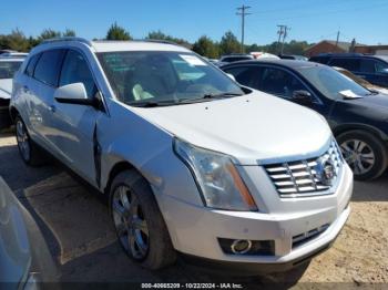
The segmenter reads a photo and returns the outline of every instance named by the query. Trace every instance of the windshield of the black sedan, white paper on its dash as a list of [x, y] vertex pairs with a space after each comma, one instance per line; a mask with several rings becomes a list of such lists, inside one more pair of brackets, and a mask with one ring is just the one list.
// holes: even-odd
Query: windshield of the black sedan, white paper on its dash
[[341, 94], [341, 92], [346, 92], [347, 96], [370, 95], [370, 91], [328, 66], [305, 66], [298, 69], [298, 72], [318, 91], [333, 100], [343, 99], [344, 93]]

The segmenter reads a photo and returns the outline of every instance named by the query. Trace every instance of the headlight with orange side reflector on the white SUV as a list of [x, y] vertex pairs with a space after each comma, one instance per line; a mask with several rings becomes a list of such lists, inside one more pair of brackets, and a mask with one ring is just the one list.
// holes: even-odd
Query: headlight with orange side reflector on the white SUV
[[257, 210], [229, 156], [174, 139], [175, 153], [193, 172], [205, 206], [228, 210]]

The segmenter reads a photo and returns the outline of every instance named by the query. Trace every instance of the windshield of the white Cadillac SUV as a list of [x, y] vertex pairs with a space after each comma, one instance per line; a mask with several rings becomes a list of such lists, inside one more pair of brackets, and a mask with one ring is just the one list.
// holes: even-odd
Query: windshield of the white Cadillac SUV
[[116, 97], [129, 105], [244, 94], [227, 75], [193, 53], [105, 52], [99, 59]]

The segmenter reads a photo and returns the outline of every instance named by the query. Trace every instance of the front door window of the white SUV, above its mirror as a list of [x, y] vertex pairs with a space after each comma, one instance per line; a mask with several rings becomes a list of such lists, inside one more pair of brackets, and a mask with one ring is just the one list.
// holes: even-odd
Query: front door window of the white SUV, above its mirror
[[90, 97], [96, 93], [96, 86], [88, 62], [81, 53], [69, 50], [63, 61], [59, 85], [72, 83], [83, 83]]

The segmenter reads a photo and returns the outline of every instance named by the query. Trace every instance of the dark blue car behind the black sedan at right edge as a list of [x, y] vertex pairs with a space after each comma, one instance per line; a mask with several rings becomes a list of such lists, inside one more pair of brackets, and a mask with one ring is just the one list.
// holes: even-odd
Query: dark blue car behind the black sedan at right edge
[[388, 87], [388, 55], [326, 53], [309, 61], [346, 69], [371, 84]]

